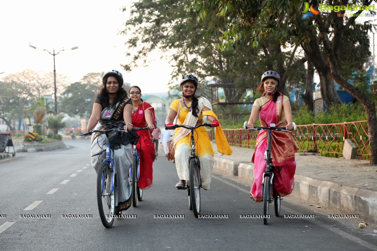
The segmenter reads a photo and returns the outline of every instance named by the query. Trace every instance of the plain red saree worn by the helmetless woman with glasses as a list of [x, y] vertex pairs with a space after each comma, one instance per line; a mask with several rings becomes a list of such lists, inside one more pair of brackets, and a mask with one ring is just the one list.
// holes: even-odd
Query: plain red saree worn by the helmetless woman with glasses
[[[144, 102], [144, 110], [150, 110], [152, 113], [152, 121], [155, 121], [155, 111], [149, 103]], [[132, 113], [131, 117], [133, 127], [137, 128], [146, 126], [146, 120], [143, 111], [143, 103], [141, 103], [138, 109], [134, 113]], [[136, 133], [140, 136], [139, 141], [136, 145], [136, 149], [140, 157], [140, 176], [138, 187], [140, 189], [147, 189], [151, 187], [153, 184], [152, 164], [153, 158], [155, 157], [155, 148], [153, 148], [153, 142], [149, 138], [148, 130], [140, 130], [136, 131]]]

